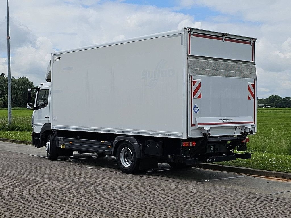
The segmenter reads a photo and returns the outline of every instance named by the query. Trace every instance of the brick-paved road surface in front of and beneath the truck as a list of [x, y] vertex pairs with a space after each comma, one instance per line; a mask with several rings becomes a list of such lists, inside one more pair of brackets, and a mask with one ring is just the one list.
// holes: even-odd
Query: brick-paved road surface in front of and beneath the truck
[[291, 183], [167, 164], [123, 174], [116, 158], [0, 142], [0, 217], [291, 217]]

